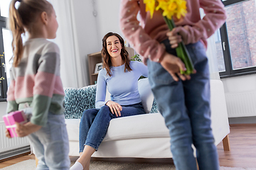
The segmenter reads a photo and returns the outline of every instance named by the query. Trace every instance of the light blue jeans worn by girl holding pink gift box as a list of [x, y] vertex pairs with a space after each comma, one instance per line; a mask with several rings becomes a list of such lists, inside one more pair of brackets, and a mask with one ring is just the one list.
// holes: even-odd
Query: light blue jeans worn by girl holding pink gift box
[[48, 113], [48, 122], [40, 130], [28, 135], [33, 152], [38, 159], [38, 170], [68, 170], [68, 132], [65, 125], [65, 115]]

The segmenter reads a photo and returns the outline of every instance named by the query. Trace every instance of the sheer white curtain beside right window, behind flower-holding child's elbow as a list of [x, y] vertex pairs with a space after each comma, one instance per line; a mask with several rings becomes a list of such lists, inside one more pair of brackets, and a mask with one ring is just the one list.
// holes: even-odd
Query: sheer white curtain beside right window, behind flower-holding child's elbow
[[[201, 14], [201, 18], [205, 16], [205, 13], [203, 12], [202, 8], [200, 9], [200, 14]], [[206, 55], [208, 57], [210, 79], [220, 79], [214, 34], [207, 39], [207, 43], [208, 45], [207, 45]]]

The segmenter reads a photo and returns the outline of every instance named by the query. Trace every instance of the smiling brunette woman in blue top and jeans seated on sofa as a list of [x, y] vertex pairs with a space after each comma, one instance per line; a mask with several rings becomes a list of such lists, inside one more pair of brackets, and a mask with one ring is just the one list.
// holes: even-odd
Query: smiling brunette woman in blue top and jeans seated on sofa
[[[148, 76], [142, 62], [130, 61], [124, 40], [117, 33], [107, 33], [102, 39], [103, 69], [97, 78], [96, 108], [82, 113], [80, 121], [80, 158], [71, 170], [89, 169], [90, 157], [104, 139], [110, 120], [144, 114], [138, 91], [138, 79]], [[111, 100], [105, 102], [106, 89]]]

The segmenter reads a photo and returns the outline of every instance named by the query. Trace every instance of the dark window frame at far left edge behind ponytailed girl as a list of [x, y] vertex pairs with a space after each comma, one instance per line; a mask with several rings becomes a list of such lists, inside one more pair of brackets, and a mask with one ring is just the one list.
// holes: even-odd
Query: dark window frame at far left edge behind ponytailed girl
[[[2, 29], [6, 28], [6, 17], [1, 16], [1, 10], [0, 10], [0, 53], [3, 54], [4, 52], [4, 38], [3, 38], [3, 32]], [[0, 58], [0, 77], [4, 77], [4, 81], [1, 81], [1, 89], [0, 89], [0, 102], [6, 101], [7, 98], [7, 77], [6, 77], [6, 69], [2, 66], [2, 63], [5, 63], [5, 56], [1, 56]]]

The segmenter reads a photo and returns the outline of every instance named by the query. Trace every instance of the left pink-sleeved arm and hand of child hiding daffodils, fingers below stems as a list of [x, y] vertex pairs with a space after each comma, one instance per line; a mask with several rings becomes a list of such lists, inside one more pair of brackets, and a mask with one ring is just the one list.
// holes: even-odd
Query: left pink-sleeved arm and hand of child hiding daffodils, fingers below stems
[[[178, 81], [178, 77], [182, 80], [190, 79], [189, 76], [180, 74], [180, 70], [184, 71], [186, 69], [183, 62], [178, 57], [167, 53], [164, 45], [153, 40], [142, 26], [139, 26], [137, 14], [140, 7], [138, 2], [137, 0], [122, 0], [120, 26], [124, 36], [129, 42], [132, 42], [134, 49], [139, 55], [142, 55], [144, 59], [149, 58], [153, 62], [160, 62], [175, 81]], [[145, 60], [144, 64], [146, 64]]]

